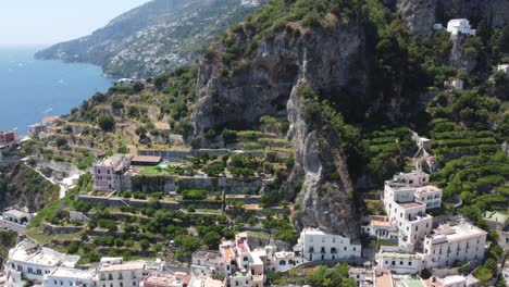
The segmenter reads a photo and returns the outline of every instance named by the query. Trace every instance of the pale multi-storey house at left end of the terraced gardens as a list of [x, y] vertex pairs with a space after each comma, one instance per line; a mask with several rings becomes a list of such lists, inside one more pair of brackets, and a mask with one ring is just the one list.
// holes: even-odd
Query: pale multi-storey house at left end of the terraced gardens
[[98, 191], [121, 190], [122, 177], [131, 167], [134, 155], [116, 154], [94, 164], [94, 189]]

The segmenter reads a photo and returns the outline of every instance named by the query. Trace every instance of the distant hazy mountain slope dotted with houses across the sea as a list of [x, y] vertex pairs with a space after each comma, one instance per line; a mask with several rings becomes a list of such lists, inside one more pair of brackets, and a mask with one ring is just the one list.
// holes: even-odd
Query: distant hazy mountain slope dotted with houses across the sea
[[264, 2], [153, 0], [36, 58], [92, 63], [113, 76], [147, 77], [193, 62], [202, 46]]

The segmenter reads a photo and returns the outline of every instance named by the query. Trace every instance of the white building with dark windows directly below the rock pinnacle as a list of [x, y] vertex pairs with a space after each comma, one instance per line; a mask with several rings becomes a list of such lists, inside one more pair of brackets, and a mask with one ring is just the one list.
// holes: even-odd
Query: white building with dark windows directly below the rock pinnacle
[[300, 233], [296, 250], [309, 261], [340, 260], [361, 257], [361, 245], [350, 238], [307, 227]]

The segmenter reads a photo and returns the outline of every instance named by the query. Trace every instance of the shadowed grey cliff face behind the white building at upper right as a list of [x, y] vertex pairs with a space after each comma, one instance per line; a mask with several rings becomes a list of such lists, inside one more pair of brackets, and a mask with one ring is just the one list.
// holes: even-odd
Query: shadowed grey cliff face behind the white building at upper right
[[429, 34], [433, 24], [444, 25], [450, 18], [465, 17], [475, 25], [491, 18], [492, 25], [509, 24], [507, 0], [398, 0], [398, 10], [410, 29], [419, 35]]

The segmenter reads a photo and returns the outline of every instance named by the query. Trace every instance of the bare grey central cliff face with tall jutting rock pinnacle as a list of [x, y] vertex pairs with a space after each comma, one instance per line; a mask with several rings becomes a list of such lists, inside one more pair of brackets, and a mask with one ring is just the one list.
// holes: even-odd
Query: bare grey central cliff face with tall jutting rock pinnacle
[[[206, 60], [199, 71], [193, 116], [196, 134], [218, 126], [256, 126], [262, 115], [287, 114], [296, 159], [289, 182], [300, 176], [306, 180], [298, 195], [296, 220], [303, 226], [357, 238], [353, 190], [342, 139], [313, 130], [305, 122], [301, 90], [343, 87], [362, 97], [368, 86], [363, 28], [352, 21], [330, 32], [301, 33], [295, 36], [284, 32], [262, 41], [249, 66], [227, 80], [222, 79], [224, 65], [219, 57]], [[220, 41], [211, 47], [215, 54], [225, 49]], [[325, 175], [331, 173], [339, 174], [339, 178], [327, 180]]]

